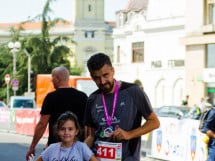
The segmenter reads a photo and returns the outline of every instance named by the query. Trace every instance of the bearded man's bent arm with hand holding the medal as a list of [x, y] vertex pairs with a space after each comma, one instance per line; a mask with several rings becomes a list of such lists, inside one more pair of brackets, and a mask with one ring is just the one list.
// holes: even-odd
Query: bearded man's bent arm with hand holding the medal
[[131, 131], [125, 131], [119, 127], [112, 133], [112, 137], [116, 140], [130, 140], [151, 132], [152, 130], [157, 129], [159, 126], [160, 121], [158, 117], [154, 112], [151, 112], [149, 117], [146, 119], [146, 122], [139, 128]]

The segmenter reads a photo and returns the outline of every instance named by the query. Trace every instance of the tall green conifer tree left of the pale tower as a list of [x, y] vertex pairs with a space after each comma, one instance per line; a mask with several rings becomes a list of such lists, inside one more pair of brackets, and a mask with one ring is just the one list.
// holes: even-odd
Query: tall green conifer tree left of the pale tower
[[[32, 70], [35, 75], [50, 73], [53, 67], [57, 65], [64, 65], [70, 69], [68, 57], [71, 56], [71, 51], [67, 46], [59, 45], [59, 42], [68, 41], [69, 38], [58, 36], [53, 40], [50, 39], [49, 30], [58, 22], [65, 22], [60, 18], [51, 20], [49, 13], [51, 12], [50, 3], [52, 1], [55, 0], [47, 0], [42, 15], [31, 20], [42, 20], [41, 34], [25, 37], [22, 41], [23, 48], [32, 51]], [[71, 42], [74, 43], [72, 40]]]

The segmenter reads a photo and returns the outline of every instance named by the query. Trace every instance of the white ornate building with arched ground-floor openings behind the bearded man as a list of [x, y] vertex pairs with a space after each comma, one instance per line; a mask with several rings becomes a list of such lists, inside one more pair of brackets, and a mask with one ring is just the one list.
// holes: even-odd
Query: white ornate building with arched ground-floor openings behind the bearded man
[[118, 79], [143, 84], [153, 107], [180, 105], [185, 88], [185, 0], [129, 0], [113, 31]]

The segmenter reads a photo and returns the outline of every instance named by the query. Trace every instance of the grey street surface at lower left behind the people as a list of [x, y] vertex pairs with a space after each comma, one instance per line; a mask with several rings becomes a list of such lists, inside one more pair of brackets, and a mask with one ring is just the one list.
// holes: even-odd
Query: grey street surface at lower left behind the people
[[[31, 143], [32, 136], [0, 131], [0, 160], [25, 161], [25, 155]], [[42, 152], [46, 138], [42, 138], [36, 147], [36, 157]], [[141, 158], [141, 161], [158, 161], [151, 158]]]

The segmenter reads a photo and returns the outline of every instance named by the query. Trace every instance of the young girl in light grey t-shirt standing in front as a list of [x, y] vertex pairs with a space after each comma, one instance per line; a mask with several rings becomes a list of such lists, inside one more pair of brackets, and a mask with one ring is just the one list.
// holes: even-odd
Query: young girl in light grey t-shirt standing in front
[[36, 161], [98, 161], [89, 147], [77, 140], [78, 119], [72, 112], [58, 118], [57, 134], [61, 142], [51, 144]]

